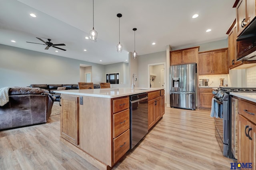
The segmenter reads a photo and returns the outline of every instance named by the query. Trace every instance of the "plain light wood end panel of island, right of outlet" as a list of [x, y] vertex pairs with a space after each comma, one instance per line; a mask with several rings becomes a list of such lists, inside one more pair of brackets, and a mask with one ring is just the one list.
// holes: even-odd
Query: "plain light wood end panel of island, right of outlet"
[[80, 148], [111, 166], [111, 99], [83, 96], [80, 105]]

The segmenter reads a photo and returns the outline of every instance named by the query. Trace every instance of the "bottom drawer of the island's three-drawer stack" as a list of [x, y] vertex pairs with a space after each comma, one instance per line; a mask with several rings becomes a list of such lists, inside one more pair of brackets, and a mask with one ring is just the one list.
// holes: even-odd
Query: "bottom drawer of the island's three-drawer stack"
[[118, 161], [130, 149], [130, 130], [126, 130], [113, 141], [114, 163]]

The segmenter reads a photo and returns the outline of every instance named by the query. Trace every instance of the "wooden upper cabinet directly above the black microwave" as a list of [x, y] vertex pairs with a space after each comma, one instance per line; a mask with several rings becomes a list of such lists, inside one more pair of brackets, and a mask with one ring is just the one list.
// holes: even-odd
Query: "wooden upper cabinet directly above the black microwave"
[[237, 36], [250, 24], [256, 16], [256, 0], [236, 0], [233, 8], [236, 8]]

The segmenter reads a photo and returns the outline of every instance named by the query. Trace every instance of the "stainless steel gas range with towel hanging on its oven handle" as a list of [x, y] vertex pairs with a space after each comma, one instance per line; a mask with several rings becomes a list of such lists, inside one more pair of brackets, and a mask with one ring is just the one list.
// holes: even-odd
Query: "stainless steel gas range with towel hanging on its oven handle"
[[220, 145], [223, 155], [236, 159], [236, 116], [232, 113], [230, 92], [256, 92], [256, 88], [246, 87], [219, 87], [213, 91], [215, 109], [216, 103], [220, 112], [218, 116], [214, 116], [215, 136]]

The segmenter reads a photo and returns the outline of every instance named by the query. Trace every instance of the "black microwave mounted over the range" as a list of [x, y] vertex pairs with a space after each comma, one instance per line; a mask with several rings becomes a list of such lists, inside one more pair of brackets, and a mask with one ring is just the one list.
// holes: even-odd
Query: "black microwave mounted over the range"
[[256, 18], [236, 39], [237, 61], [256, 60]]

